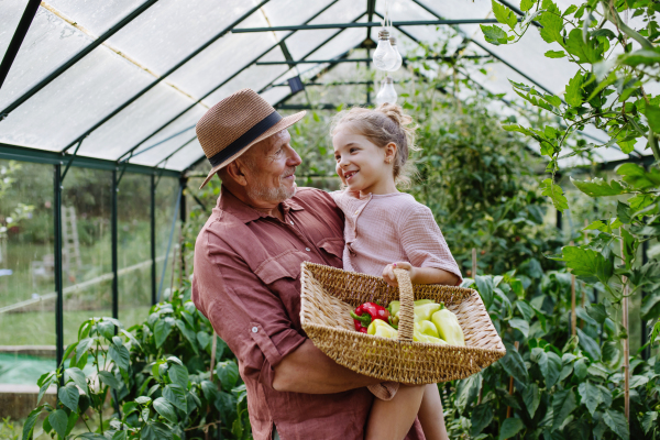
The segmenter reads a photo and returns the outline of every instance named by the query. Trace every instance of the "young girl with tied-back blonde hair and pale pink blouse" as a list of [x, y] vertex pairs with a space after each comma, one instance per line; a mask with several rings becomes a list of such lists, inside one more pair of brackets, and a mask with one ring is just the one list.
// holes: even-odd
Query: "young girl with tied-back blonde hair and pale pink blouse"
[[[396, 105], [339, 113], [331, 135], [337, 174], [345, 188], [332, 193], [345, 215], [344, 270], [383, 276], [396, 286], [393, 268], [410, 271], [415, 284], [461, 283], [457, 265], [431, 210], [397, 184], [407, 184], [408, 152], [415, 150], [413, 119]], [[374, 400], [366, 439], [403, 439], [419, 417], [425, 437], [448, 439], [436, 384], [370, 387]]]

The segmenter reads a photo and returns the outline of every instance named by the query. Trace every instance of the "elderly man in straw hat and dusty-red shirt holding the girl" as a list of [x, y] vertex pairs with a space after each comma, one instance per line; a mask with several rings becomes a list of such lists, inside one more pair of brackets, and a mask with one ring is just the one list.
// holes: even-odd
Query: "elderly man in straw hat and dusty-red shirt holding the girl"
[[[334, 363], [300, 327], [300, 263], [342, 267], [343, 217], [296, 188], [300, 156], [282, 118], [250, 89], [212, 107], [199, 143], [222, 193], [195, 248], [193, 300], [239, 360], [255, 440], [358, 440], [377, 380]], [[408, 439], [424, 439], [419, 424]]]

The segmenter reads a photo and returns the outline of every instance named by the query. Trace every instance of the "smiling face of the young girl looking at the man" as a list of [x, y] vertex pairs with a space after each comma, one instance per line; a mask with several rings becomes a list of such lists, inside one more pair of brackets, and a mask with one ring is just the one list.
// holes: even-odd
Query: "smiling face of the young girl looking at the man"
[[337, 174], [350, 191], [361, 195], [397, 191], [393, 175], [396, 144], [380, 147], [343, 123], [334, 131], [332, 146]]

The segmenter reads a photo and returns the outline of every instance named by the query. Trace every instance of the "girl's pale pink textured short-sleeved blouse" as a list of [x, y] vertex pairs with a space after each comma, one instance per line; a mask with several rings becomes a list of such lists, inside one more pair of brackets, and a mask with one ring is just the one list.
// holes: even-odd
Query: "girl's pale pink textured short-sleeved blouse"
[[330, 193], [345, 215], [343, 267], [382, 276], [387, 264], [409, 262], [415, 267], [461, 271], [433, 219], [431, 210], [406, 193]]

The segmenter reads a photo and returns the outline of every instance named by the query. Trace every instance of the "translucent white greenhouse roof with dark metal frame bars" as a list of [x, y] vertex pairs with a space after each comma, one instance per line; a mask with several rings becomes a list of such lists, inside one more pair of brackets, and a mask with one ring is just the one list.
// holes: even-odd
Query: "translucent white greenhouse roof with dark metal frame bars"
[[[479, 24], [494, 21], [490, 0], [3, 0], [0, 157], [75, 154], [89, 166], [184, 172], [204, 157], [195, 124], [208, 108], [244, 87], [286, 108], [286, 81], [309, 81], [365, 47], [386, 8], [403, 52], [447, 38], [452, 25], [451, 48], [494, 59], [461, 74], [504, 94], [499, 111], [516, 112], [508, 79], [562, 96], [575, 73], [543, 56], [538, 32], [513, 46], [487, 44]], [[608, 139], [595, 128], [585, 134]], [[604, 162], [628, 157], [598, 153]]]

